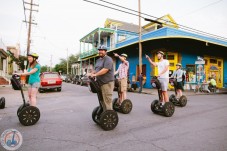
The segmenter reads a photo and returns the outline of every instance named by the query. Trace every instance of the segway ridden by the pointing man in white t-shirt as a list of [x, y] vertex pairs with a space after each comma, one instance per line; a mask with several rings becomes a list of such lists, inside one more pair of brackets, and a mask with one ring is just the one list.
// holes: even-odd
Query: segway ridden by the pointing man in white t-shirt
[[160, 81], [157, 77], [153, 77], [151, 80], [151, 84], [154, 88], [157, 88], [159, 97], [159, 100], [154, 100], [151, 103], [151, 111], [155, 114], [171, 117], [175, 111], [175, 107], [172, 102], [166, 102], [164, 105], [161, 105], [160, 100], [162, 100], [162, 89]]

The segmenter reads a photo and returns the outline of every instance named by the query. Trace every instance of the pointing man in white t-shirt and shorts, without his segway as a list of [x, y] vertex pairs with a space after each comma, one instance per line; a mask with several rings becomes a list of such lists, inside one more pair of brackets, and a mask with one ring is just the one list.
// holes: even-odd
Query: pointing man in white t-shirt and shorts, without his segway
[[168, 83], [169, 83], [169, 61], [163, 58], [164, 52], [158, 51], [157, 57], [159, 62], [153, 62], [149, 56], [146, 55], [146, 58], [150, 62], [151, 65], [154, 67], [158, 67], [158, 79], [161, 83], [161, 89], [162, 89], [162, 99], [160, 100], [162, 105], [165, 104], [165, 102], [169, 102], [169, 97], [167, 93]]

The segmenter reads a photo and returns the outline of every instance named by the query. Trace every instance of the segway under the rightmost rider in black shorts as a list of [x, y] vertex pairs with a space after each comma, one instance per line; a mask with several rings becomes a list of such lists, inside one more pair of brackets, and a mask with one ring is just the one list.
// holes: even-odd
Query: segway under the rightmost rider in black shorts
[[175, 94], [170, 95], [169, 101], [172, 102], [176, 106], [184, 107], [187, 104], [187, 97], [185, 95], [182, 95], [179, 99], [177, 96], [177, 81], [174, 78], [169, 79], [170, 85], [174, 87]]

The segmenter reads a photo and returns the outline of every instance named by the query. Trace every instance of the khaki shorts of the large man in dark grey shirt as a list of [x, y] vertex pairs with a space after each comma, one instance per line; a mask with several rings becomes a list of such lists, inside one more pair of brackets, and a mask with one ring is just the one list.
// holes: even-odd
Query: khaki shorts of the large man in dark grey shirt
[[103, 84], [101, 86], [101, 91], [102, 91], [102, 96], [103, 96], [103, 101], [102, 106], [103, 110], [113, 110], [113, 105], [112, 105], [112, 96], [113, 96], [113, 88], [114, 88], [114, 82], [109, 82], [107, 84]]

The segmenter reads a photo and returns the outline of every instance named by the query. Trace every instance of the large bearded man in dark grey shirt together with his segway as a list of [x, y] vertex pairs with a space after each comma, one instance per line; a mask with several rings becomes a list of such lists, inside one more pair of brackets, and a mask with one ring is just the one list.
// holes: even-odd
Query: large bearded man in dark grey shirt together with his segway
[[[92, 112], [92, 119], [104, 130], [113, 130], [118, 124], [117, 112], [112, 109], [114, 88], [113, 60], [107, 56], [107, 48], [98, 48], [100, 58], [96, 61], [95, 71], [90, 77], [90, 89], [97, 92], [99, 106]], [[96, 80], [94, 79], [96, 78]]]

